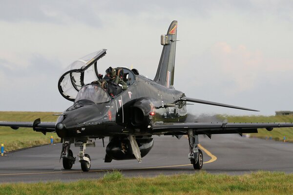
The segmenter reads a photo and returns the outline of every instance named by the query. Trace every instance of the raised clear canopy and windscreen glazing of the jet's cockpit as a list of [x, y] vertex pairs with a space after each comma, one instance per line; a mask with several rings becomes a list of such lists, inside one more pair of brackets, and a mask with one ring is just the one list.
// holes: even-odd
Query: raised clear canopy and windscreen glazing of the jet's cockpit
[[[61, 95], [64, 98], [74, 102], [80, 100], [82, 97], [85, 97], [95, 103], [101, 101], [97, 100], [94, 95], [98, 95], [103, 99], [103, 101], [105, 101], [106, 97], [108, 96], [105, 91], [105, 93], [103, 93], [101, 90], [101, 92], [98, 92], [95, 91], [94, 88], [99, 86], [87, 85], [93, 81], [100, 80], [97, 62], [105, 55], [106, 49], [102, 49], [71, 63], [67, 67], [65, 73], [60, 77], [58, 82], [58, 89]], [[138, 74], [136, 73], [137, 70], [133, 69], [132, 71], [125, 67], [122, 67], [122, 69], [124, 73], [123, 79], [127, 86], [129, 86], [135, 81], [136, 75]], [[104, 71], [105, 70], [102, 72], [104, 73]], [[99, 89], [100, 88], [101, 87], [99, 87]], [[103, 90], [103, 88], [101, 89]], [[80, 91], [81, 93], [79, 93]]]

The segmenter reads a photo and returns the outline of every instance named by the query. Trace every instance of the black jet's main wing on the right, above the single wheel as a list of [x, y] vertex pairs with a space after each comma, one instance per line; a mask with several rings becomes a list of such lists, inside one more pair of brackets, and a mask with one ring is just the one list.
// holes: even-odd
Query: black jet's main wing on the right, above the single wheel
[[265, 128], [272, 131], [273, 128], [293, 127], [293, 123], [163, 123], [156, 122], [152, 126], [154, 133], [164, 135], [185, 135], [188, 130], [193, 130], [196, 135], [212, 134], [240, 134], [257, 133], [257, 129]]

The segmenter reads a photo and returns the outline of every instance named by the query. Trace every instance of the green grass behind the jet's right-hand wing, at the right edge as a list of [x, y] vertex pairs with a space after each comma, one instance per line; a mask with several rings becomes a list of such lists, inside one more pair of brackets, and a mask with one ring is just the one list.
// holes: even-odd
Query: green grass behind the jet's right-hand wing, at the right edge
[[[228, 122], [293, 122], [293, 115], [287, 116], [223, 116], [218, 115], [220, 119], [228, 119]], [[293, 128], [274, 128], [272, 131], [266, 129], [258, 129], [257, 134], [251, 134], [252, 137], [269, 138], [273, 140], [293, 142]]]

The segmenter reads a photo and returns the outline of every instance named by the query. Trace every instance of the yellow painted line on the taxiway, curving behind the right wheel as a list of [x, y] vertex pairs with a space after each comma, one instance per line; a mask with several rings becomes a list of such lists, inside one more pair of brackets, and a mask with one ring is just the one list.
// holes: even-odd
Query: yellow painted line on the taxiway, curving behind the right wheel
[[[206, 163], [211, 163], [217, 160], [217, 157], [212, 155], [207, 149], [205, 149], [202, 145], [198, 144], [198, 147], [203, 150], [211, 159]], [[184, 167], [190, 166], [192, 164], [185, 164], [185, 165], [169, 165], [169, 166], [159, 166], [159, 167], [141, 167], [141, 168], [133, 168], [133, 169], [116, 169], [121, 171], [127, 170], [140, 170], [140, 169], [159, 169], [159, 168], [170, 168], [170, 167]], [[115, 169], [100, 169], [100, 170], [90, 170], [89, 172], [105, 172], [105, 171], [114, 171]], [[82, 173], [83, 171], [54, 171], [54, 172], [36, 172], [36, 173], [15, 173], [15, 174], [0, 174], [0, 176], [20, 176], [20, 175], [37, 175], [37, 174], [56, 174], [56, 173]]]

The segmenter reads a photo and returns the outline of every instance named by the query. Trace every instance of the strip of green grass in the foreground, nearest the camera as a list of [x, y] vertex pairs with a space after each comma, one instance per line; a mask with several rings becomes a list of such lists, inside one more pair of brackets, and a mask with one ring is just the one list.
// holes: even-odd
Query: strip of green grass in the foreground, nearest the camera
[[191, 175], [124, 177], [107, 173], [101, 179], [75, 182], [0, 184], [0, 195], [271, 195], [293, 194], [293, 174], [256, 172], [241, 176]]

